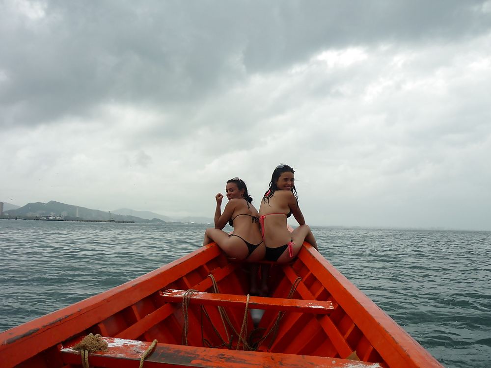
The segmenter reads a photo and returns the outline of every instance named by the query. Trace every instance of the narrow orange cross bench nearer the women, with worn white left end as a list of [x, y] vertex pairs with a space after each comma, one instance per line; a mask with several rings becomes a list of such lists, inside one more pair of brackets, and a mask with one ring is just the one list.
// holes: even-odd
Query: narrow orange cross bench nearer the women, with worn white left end
[[[166, 302], [182, 303], [184, 290], [166, 290], [161, 296]], [[220, 307], [246, 307], [247, 296], [231, 294], [214, 294], [209, 292], [193, 293], [190, 304], [212, 305]], [[310, 301], [301, 299], [264, 298], [261, 296], [249, 297], [249, 308], [290, 311], [300, 313], [329, 314], [334, 310], [334, 303], [329, 301]]]

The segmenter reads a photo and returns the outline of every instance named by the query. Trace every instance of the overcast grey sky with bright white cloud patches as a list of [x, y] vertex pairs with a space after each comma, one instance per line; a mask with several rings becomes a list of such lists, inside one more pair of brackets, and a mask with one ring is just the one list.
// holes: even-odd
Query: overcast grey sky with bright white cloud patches
[[491, 1], [0, 0], [0, 201], [491, 230]]

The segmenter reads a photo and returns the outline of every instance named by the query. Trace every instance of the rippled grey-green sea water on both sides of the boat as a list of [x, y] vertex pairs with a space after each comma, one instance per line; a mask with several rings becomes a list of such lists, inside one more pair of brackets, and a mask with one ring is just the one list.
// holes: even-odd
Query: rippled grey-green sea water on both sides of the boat
[[[206, 226], [0, 220], [0, 331], [198, 249]], [[491, 232], [313, 229], [321, 254], [443, 366], [491, 367]]]

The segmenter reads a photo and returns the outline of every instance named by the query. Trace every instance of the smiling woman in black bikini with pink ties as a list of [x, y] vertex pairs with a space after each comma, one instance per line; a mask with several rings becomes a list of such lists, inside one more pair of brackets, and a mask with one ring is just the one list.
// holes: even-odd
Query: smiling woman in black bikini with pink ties
[[[317, 242], [300, 211], [294, 173], [288, 165], [276, 167], [270, 187], [261, 201], [259, 214], [267, 261], [292, 261], [300, 252], [304, 240], [317, 249]], [[286, 219], [292, 214], [300, 226], [290, 233]]]

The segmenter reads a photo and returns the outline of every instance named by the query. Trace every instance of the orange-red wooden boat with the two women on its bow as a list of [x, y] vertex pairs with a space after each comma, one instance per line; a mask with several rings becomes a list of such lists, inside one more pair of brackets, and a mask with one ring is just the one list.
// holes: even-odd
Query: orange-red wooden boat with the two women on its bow
[[[271, 265], [268, 300], [246, 298], [248, 270], [248, 264], [230, 260], [215, 243], [208, 244], [133, 281], [1, 333], [2, 367], [73, 367], [81, 362], [81, 357], [69, 350], [89, 333], [135, 343], [158, 340], [145, 367], [162, 364], [151, 361], [157, 356], [166, 359], [167, 365], [179, 366], [170, 362], [172, 354], [187, 356], [188, 360], [194, 355], [206, 356], [207, 362], [213, 362], [215, 357], [214, 366], [221, 366], [217, 362], [228, 357], [224, 361], [229, 367], [234, 366], [231, 362], [242, 362], [241, 367], [260, 362], [267, 366], [267, 361], [278, 359], [287, 367], [342, 367], [347, 362], [345, 358], [353, 358], [354, 352], [366, 363], [359, 362], [360, 367], [442, 367], [309, 244], [304, 243], [293, 263]], [[218, 294], [213, 292], [209, 275], [217, 282]], [[298, 286], [292, 290], [294, 284]], [[185, 313], [182, 298], [189, 289], [201, 294], [191, 296]], [[287, 298], [292, 291], [293, 300]], [[249, 310], [244, 318], [246, 305]], [[227, 314], [230, 325], [223, 322], [217, 306]], [[265, 310], [257, 330], [250, 308]], [[203, 311], [208, 317], [203, 316]], [[282, 311], [282, 317], [275, 324], [278, 311]], [[185, 322], [189, 346], [183, 346]], [[244, 348], [238, 336], [241, 329], [249, 348], [257, 351], [229, 350], [238, 345]], [[268, 331], [273, 333], [262, 345], [255, 346], [261, 334]], [[220, 348], [207, 347], [220, 344]], [[113, 348], [116, 347], [110, 347], [108, 353], [90, 354], [90, 364], [97, 366], [100, 359], [114, 362], [110, 358], [116, 354]], [[130, 357], [132, 350], [126, 350], [127, 356], [117, 353], [124, 356], [119, 364], [132, 362], [137, 367], [134, 357]], [[164, 350], [172, 353], [165, 355]], [[240, 354], [246, 354], [248, 365], [244, 365], [245, 358]], [[186, 359], [183, 362], [188, 362]], [[104, 364], [101, 367], [110, 366]], [[196, 364], [206, 367], [211, 363]]]

